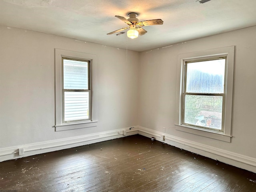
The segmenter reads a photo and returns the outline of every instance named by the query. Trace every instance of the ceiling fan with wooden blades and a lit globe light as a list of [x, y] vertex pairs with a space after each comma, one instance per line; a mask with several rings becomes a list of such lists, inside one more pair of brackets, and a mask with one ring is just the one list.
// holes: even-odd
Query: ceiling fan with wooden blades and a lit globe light
[[122, 16], [116, 15], [115, 17], [117, 17], [118, 19], [122, 20], [123, 22], [125, 22], [129, 26], [125, 27], [125, 28], [118, 29], [118, 30], [113, 31], [113, 32], [110, 32], [107, 35], [118, 33], [118, 32], [121, 32], [123, 30], [126, 30], [126, 29], [130, 28], [127, 31], [127, 36], [129, 38], [133, 39], [133, 38], [137, 38], [138, 35], [144, 35], [147, 32], [146, 30], [144, 30], [142, 28], [143, 26], [162, 25], [163, 24], [162, 19], [153, 19], [153, 20], [146, 20], [146, 21], [140, 21], [139, 22], [138, 18], [136, 18], [136, 16], [138, 16], [137, 13], [129, 13], [128, 16], [129, 16], [129, 18], [126, 19], [126, 18], [124, 18]]

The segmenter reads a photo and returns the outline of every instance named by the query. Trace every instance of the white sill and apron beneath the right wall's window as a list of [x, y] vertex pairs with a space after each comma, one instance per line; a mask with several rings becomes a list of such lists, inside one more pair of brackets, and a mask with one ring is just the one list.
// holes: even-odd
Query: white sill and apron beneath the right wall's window
[[175, 125], [176, 125], [176, 130], [179, 130], [179, 131], [200, 135], [200, 136], [204, 136], [204, 137], [208, 137], [216, 140], [221, 140], [229, 143], [231, 142], [232, 136], [224, 133], [213, 132], [210, 130], [201, 130], [201, 129], [196, 129], [196, 128], [192, 128], [184, 125], [178, 125], [178, 124], [175, 124]]

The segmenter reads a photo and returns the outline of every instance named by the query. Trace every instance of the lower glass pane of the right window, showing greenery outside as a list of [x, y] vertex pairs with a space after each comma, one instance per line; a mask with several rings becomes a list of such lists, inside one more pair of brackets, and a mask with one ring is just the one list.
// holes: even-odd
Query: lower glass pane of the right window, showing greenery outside
[[184, 123], [222, 129], [222, 96], [185, 95]]

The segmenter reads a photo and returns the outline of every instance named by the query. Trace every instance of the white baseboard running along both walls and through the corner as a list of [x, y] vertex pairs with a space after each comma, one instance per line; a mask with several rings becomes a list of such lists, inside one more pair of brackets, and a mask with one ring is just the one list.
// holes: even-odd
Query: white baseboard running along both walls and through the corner
[[[118, 131], [120, 131], [120, 134], [118, 134]], [[124, 135], [123, 132], [126, 132], [126, 134]], [[2, 148], [0, 149], [0, 162], [36, 154], [42, 154], [46, 152], [52, 152], [56, 150], [83, 146], [106, 140], [112, 140], [134, 134], [140, 134], [149, 138], [154, 137], [155, 140], [158, 140], [160, 142], [164, 142], [166, 144], [170, 144], [172, 146], [176, 146], [178, 148], [188, 150], [190, 152], [194, 152], [196, 154], [200, 154], [202, 156], [206, 156], [208, 158], [212, 158], [214, 160], [218, 160], [220, 162], [224, 162], [226, 164], [230, 164], [256, 173], [255, 158], [200, 144], [198, 142], [192, 142], [184, 138], [178, 138], [168, 135], [164, 132], [158, 132], [141, 126], [134, 126], [131, 129], [123, 128], [119, 130], [99, 132], [96, 134], [88, 134], [79, 137]], [[161, 136], [164, 136], [164, 140], [161, 140]], [[19, 148], [24, 148], [24, 155], [19, 155]]]

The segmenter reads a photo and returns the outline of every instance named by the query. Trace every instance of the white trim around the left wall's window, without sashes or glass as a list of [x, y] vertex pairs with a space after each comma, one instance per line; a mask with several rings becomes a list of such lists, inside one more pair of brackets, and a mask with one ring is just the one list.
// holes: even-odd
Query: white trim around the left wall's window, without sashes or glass
[[[90, 60], [91, 68], [91, 120], [84, 122], [63, 122], [62, 118], [62, 87], [63, 67], [62, 57]], [[94, 54], [55, 49], [55, 131], [72, 130], [94, 127], [98, 124], [97, 118], [97, 56]]]

